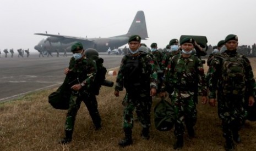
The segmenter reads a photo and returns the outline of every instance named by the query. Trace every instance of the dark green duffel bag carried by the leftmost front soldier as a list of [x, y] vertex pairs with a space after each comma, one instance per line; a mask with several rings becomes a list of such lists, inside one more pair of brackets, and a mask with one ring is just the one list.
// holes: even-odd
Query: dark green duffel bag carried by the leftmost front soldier
[[64, 90], [63, 85], [48, 96], [48, 102], [56, 109], [68, 109], [71, 91]]

